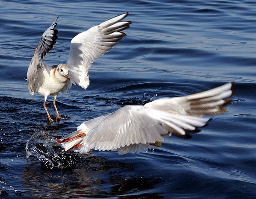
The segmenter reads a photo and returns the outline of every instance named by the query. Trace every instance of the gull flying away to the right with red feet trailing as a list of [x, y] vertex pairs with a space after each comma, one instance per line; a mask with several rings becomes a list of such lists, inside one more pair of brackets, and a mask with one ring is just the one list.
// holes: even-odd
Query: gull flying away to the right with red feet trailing
[[206, 125], [204, 115], [221, 114], [232, 102], [233, 83], [184, 97], [160, 98], [145, 105], [126, 105], [117, 111], [88, 120], [60, 140], [65, 150], [86, 153], [91, 149], [141, 152], [161, 146], [168, 136], [191, 138], [188, 132]]

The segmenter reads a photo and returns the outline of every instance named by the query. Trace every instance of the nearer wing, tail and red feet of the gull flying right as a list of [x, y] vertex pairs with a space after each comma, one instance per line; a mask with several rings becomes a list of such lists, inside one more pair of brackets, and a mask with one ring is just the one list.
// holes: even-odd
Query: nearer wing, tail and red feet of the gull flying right
[[162, 143], [171, 134], [185, 135], [186, 130], [193, 131], [196, 127], [204, 126], [208, 120], [142, 105], [127, 105], [112, 114], [82, 123], [76, 132], [66, 135], [59, 143], [65, 150], [79, 144], [75, 152], [80, 153], [93, 148], [117, 150], [120, 154], [140, 152], [151, 148], [150, 144]]

